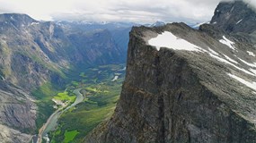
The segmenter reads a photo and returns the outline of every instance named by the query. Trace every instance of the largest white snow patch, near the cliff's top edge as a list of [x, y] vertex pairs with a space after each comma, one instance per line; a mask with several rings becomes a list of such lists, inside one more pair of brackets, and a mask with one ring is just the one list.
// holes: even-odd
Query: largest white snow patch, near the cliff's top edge
[[156, 38], [151, 38], [148, 40], [148, 44], [151, 46], [156, 46], [156, 49], [159, 51], [160, 47], [168, 47], [174, 50], [186, 50], [186, 51], [197, 51], [200, 52], [202, 48], [195, 46], [190, 42], [178, 38], [169, 31], [164, 31], [162, 34], [159, 34]]

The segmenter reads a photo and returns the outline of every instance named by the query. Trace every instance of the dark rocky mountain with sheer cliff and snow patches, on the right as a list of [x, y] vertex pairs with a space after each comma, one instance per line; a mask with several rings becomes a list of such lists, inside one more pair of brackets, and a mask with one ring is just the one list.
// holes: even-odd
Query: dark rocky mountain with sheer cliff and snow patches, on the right
[[254, 14], [221, 2], [199, 30], [134, 27], [115, 113], [84, 142], [256, 142]]

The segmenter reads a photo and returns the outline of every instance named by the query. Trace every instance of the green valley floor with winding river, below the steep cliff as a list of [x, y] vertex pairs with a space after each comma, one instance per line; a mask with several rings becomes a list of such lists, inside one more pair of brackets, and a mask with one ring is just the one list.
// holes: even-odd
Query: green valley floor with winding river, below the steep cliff
[[75, 79], [64, 92], [52, 98], [55, 102], [51, 106], [56, 111], [33, 140], [82, 142], [84, 136], [113, 113], [125, 77], [125, 64], [95, 66], [72, 74], [76, 74], [72, 76]]

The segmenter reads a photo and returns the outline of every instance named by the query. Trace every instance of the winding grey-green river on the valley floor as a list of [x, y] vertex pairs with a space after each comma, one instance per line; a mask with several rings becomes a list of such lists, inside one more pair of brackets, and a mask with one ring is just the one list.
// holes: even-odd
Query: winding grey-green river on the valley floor
[[84, 101], [84, 96], [80, 93], [81, 88], [76, 88], [73, 93], [75, 94], [75, 102], [72, 105], [68, 105], [66, 109], [62, 110], [62, 108], [57, 109], [56, 112], [51, 114], [49, 116], [48, 121], [40, 128], [39, 134], [37, 136], [34, 136], [37, 138], [37, 143], [41, 143], [42, 138], [49, 139], [48, 133], [51, 130], [55, 130], [57, 127], [57, 120], [60, 117], [61, 114], [65, 113], [68, 109], [74, 107], [75, 105], [81, 103]]

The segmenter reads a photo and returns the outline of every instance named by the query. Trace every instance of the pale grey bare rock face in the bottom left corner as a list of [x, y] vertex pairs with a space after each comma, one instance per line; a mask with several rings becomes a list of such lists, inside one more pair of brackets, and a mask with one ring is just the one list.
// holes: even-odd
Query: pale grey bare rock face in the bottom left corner
[[0, 140], [29, 142], [31, 132], [36, 131], [34, 100], [22, 89], [1, 84], [0, 101]]

